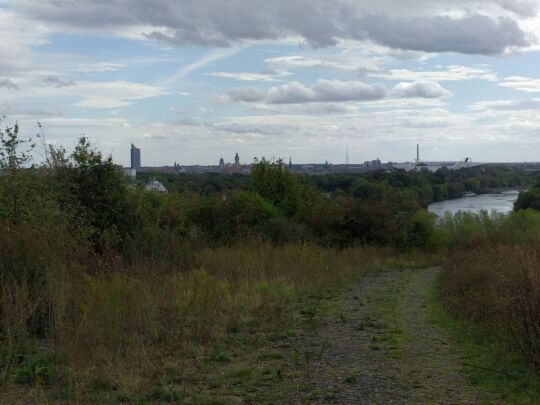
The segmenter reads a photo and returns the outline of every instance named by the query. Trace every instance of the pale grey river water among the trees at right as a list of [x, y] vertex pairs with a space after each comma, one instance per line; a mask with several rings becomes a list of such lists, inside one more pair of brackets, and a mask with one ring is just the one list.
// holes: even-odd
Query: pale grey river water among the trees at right
[[440, 201], [429, 205], [429, 212], [442, 217], [445, 213], [455, 214], [458, 211], [478, 213], [481, 210], [491, 212], [510, 212], [514, 207], [519, 191], [511, 190], [500, 194], [479, 194], [470, 197]]

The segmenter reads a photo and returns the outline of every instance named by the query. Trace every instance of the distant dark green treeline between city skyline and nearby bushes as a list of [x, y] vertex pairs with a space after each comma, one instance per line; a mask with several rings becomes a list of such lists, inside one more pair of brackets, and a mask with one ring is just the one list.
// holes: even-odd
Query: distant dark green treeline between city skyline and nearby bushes
[[[249, 189], [251, 178], [242, 175], [221, 173], [199, 174], [154, 174], [140, 173], [142, 182], [157, 177], [168, 190], [181, 193], [213, 195], [233, 189]], [[523, 188], [532, 184], [533, 177], [522, 170], [500, 166], [448, 170], [435, 173], [420, 172], [371, 172], [365, 174], [334, 173], [318, 176], [300, 175], [303, 182], [316, 190], [331, 195], [360, 198], [378, 197], [395, 190], [407, 190], [422, 207], [432, 202], [459, 198], [465, 192], [483, 193], [490, 189]]]

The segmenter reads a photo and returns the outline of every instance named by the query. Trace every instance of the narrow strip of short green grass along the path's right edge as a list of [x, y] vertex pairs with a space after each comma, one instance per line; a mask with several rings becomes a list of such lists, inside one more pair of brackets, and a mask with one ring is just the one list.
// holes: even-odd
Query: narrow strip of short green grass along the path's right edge
[[436, 287], [430, 292], [426, 310], [458, 345], [464, 355], [463, 371], [479, 389], [483, 401], [493, 403], [496, 395], [508, 404], [540, 403], [540, 376], [501, 338], [489, 336], [474, 323], [445, 311]]

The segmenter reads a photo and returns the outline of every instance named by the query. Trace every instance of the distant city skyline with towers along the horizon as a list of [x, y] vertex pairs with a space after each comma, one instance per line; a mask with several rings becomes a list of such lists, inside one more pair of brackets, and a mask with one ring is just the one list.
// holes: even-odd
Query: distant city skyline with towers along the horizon
[[[141, 159], [141, 149], [131, 144], [131, 166], [124, 168], [127, 175], [135, 177], [136, 173], [223, 173], [223, 174], [250, 174], [251, 167], [254, 163], [242, 163], [238, 153], [235, 154], [233, 162], [225, 162], [221, 157], [216, 165], [181, 165], [174, 162], [172, 166], [143, 166]], [[333, 164], [328, 163], [309, 163], [309, 164], [294, 164], [292, 158], [289, 161], [283, 161], [283, 165], [293, 173], [298, 174], [327, 174], [327, 173], [365, 173], [370, 171], [388, 171], [388, 170], [403, 170], [403, 171], [422, 171], [427, 170], [436, 172], [442, 168], [448, 170], [458, 170], [462, 168], [471, 168], [478, 166], [497, 165], [522, 168], [524, 170], [537, 171], [540, 170], [540, 163], [536, 162], [514, 162], [514, 163], [487, 163], [473, 162], [470, 158], [464, 158], [460, 161], [423, 161], [420, 158], [420, 145], [416, 145], [416, 158], [409, 162], [386, 162], [383, 163], [379, 158], [368, 160], [364, 163], [349, 163], [349, 150], [347, 147], [346, 163]]]

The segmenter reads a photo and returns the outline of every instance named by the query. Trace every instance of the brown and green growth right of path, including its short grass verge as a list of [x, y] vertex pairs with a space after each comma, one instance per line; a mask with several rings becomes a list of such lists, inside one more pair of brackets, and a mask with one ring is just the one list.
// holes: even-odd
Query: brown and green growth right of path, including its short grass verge
[[478, 361], [490, 370], [492, 380], [498, 377], [492, 385], [510, 383], [514, 392], [523, 394], [515, 401], [537, 401], [540, 213], [462, 213], [448, 216], [441, 230], [449, 249], [439, 280], [445, 309], [463, 322], [461, 335], [488, 348]]

